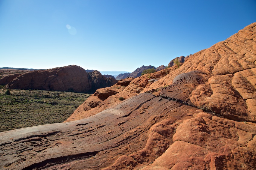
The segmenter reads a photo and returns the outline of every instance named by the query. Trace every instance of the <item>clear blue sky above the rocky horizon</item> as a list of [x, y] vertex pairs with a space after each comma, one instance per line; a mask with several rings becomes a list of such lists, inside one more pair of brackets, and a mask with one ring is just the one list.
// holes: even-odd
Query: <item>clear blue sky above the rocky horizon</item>
[[0, 0], [0, 67], [168, 65], [256, 22], [256, 0]]

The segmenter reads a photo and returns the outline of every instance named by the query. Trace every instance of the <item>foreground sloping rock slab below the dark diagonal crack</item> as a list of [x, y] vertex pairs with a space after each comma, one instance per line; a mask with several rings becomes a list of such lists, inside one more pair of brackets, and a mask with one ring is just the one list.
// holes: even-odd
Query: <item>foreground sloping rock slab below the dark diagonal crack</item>
[[255, 133], [142, 93], [89, 118], [0, 133], [0, 169], [254, 169]]

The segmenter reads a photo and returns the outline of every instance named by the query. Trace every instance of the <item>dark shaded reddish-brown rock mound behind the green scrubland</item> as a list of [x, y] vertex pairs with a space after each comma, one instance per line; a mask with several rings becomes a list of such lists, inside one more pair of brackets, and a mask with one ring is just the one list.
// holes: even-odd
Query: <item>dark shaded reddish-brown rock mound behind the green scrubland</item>
[[96, 70], [86, 73], [82, 67], [71, 65], [21, 74], [12, 79], [6, 87], [11, 89], [88, 92], [109, 87], [116, 82], [115, 79], [106, 78]]

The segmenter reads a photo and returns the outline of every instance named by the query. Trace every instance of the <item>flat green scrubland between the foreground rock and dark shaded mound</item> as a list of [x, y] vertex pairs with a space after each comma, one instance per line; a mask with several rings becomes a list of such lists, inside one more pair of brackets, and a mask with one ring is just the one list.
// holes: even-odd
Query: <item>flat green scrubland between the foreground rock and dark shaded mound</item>
[[0, 89], [0, 132], [65, 121], [91, 94]]

